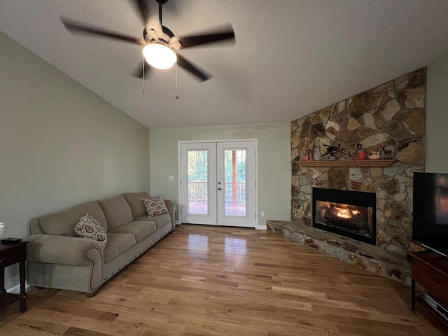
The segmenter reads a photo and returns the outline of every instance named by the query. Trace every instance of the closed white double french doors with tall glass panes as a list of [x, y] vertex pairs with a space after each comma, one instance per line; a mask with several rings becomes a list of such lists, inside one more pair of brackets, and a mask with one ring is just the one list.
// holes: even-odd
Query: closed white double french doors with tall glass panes
[[182, 223], [255, 228], [255, 141], [181, 143]]

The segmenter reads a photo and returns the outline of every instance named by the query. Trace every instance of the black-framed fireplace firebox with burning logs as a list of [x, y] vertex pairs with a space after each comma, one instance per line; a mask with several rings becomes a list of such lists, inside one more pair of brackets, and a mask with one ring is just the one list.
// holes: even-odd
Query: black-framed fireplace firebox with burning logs
[[377, 244], [376, 194], [313, 188], [313, 226]]

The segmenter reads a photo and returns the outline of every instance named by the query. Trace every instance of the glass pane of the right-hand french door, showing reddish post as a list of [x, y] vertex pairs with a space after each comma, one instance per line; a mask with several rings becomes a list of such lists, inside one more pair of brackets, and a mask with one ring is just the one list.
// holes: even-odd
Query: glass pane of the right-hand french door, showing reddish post
[[224, 151], [224, 216], [246, 217], [246, 149]]

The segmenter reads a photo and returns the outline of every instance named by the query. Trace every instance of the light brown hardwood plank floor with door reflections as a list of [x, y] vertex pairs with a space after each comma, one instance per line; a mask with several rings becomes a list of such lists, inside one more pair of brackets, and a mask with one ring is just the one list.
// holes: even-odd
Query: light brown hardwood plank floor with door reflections
[[29, 290], [0, 335], [442, 335], [400, 292], [272, 232], [181, 225], [95, 297]]

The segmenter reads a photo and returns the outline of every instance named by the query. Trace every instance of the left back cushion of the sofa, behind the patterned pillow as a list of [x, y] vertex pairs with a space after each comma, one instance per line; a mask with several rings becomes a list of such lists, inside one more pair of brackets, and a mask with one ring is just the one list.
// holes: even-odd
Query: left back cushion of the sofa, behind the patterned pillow
[[41, 217], [41, 229], [43, 233], [47, 235], [77, 237], [74, 228], [76, 223], [78, 223], [79, 218], [85, 213], [94, 216], [107, 231], [107, 222], [104, 212], [101, 207], [99, 207], [98, 202], [94, 201], [85, 202], [76, 207]]

